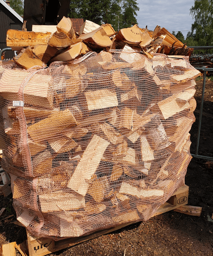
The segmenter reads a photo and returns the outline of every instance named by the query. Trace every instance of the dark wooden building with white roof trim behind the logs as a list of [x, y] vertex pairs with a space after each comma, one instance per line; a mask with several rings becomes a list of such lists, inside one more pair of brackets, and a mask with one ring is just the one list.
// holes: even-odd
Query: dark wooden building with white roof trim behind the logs
[[[9, 1], [7, 2], [9, 3]], [[0, 0], [0, 49], [7, 47], [8, 29], [22, 30], [23, 18], [17, 14], [4, 0]], [[6, 51], [5, 58], [13, 58], [14, 51]]]

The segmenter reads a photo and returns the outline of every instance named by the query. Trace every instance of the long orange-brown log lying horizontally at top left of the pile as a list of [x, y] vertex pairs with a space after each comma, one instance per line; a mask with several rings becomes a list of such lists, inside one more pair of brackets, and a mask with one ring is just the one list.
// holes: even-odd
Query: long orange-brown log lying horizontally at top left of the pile
[[51, 33], [28, 32], [9, 29], [7, 31], [7, 47], [14, 51], [20, 51], [21, 48], [33, 46], [36, 44], [47, 44], [51, 38]]

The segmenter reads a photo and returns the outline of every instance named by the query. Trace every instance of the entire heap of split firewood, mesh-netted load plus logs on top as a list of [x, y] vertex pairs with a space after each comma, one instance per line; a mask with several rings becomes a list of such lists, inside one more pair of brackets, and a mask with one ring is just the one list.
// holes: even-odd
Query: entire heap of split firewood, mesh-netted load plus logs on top
[[[89, 27], [78, 37], [63, 18], [45, 34], [51, 45], [31, 34], [14, 63], [0, 66], [2, 165], [17, 219], [35, 236], [147, 220], [184, 184], [191, 159], [200, 73], [188, 57], [153, 54], [181, 42], [160, 27], [116, 35], [108, 24]], [[26, 46], [12, 38], [9, 31], [8, 44]]]

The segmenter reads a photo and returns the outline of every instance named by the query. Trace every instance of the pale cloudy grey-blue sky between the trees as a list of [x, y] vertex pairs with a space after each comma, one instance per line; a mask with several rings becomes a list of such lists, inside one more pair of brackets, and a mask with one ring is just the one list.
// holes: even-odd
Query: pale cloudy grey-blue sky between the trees
[[138, 7], [136, 19], [140, 28], [154, 30], [161, 26], [169, 32], [182, 31], [186, 38], [194, 20], [190, 15], [190, 8], [194, 0], [137, 0]]

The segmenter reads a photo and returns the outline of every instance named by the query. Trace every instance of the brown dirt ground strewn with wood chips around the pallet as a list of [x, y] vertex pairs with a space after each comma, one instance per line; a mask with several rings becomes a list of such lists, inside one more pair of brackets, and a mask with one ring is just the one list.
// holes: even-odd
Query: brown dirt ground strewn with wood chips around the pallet
[[[190, 131], [192, 154], [196, 150], [202, 82], [199, 80], [196, 85], [196, 122]], [[198, 154], [213, 156], [213, 81], [206, 83]], [[188, 204], [202, 207], [201, 217], [166, 212], [50, 256], [213, 256], [213, 220], [208, 221], [213, 214], [213, 168], [208, 160], [193, 157], [185, 183], [190, 189]], [[26, 232], [13, 223], [16, 218], [12, 195], [0, 196], [2, 207], [6, 211], [0, 216], [0, 244], [20, 244], [26, 239]]]

